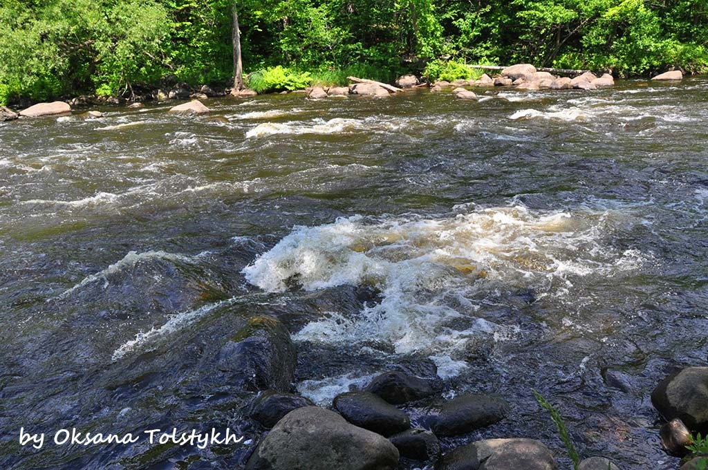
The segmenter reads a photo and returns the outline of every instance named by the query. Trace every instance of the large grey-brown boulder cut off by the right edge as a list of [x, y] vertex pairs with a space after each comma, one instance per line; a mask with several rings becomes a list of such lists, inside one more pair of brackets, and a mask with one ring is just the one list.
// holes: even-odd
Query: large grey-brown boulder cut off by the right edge
[[666, 420], [680, 418], [688, 429], [708, 429], [708, 367], [670, 374], [651, 392], [651, 403]]

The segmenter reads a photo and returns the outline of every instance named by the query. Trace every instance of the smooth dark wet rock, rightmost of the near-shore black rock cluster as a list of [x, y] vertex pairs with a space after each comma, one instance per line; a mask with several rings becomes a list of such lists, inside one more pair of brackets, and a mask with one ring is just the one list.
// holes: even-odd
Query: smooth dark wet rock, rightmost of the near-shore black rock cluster
[[430, 425], [436, 435], [454, 436], [497, 423], [508, 413], [508, 404], [498, 396], [460, 395], [443, 403]]

